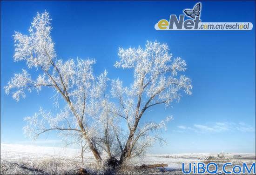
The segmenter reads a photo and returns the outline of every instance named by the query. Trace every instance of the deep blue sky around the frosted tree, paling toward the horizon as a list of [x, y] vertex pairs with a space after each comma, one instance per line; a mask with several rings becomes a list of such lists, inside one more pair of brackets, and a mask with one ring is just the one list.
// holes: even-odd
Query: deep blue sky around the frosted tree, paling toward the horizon
[[[255, 1], [201, 1], [202, 22], [252, 22]], [[13, 62], [14, 31], [27, 34], [37, 12], [47, 10], [58, 57], [95, 58], [96, 74], [128, 83], [130, 72], [116, 69], [118, 47], [142, 47], [146, 40], [168, 43], [174, 57], [187, 61], [193, 94], [171, 108], [158, 106], [148, 114], [174, 120], [164, 133], [167, 145], [154, 153], [255, 152], [255, 26], [251, 31], [156, 31], [155, 23], [182, 14], [196, 1], [1, 1], [1, 143], [58, 146], [54, 134], [31, 142], [23, 135], [23, 118], [39, 107], [50, 109], [52, 94], [42, 90], [14, 101], [3, 86], [24, 62]]]

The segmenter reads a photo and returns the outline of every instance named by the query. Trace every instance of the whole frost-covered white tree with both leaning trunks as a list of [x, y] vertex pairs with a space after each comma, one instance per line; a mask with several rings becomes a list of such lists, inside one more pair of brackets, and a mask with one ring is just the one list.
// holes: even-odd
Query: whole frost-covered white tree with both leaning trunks
[[[49, 13], [38, 13], [28, 35], [14, 34], [14, 61], [26, 61], [27, 70], [14, 74], [4, 87], [6, 93], [12, 93], [19, 101], [27, 92], [39, 93], [47, 88], [52, 90], [58, 109], [55, 113], [40, 108], [26, 117], [25, 133], [37, 138], [57, 130], [64, 138], [79, 143], [82, 152], [88, 148], [97, 161], [106, 152], [109, 158], [119, 158], [119, 163], [141, 155], [156, 140], [162, 140], [159, 131], [171, 116], [160, 123], [140, 121], [149, 108], [161, 104], [168, 107], [180, 100], [182, 92], [191, 94], [191, 81], [181, 74], [186, 70], [186, 62], [173, 59], [167, 44], [156, 41], [147, 42], [145, 48], [120, 48], [120, 61], [115, 67], [133, 69], [134, 81], [123, 87], [121, 80], [112, 80], [108, 92], [107, 71], [95, 76], [94, 60], [57, 58], [50, 21]], [[33, 79], [34, 75], [37, 78]], [[59, 105], [60, 101], [65, 101], [65, 105]]]

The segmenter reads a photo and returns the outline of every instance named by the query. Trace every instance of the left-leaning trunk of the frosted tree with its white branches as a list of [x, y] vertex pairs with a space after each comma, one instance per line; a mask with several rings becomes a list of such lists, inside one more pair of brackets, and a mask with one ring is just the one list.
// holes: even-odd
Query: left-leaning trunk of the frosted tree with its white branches
[[36, 138], [47, 131], [58, 130], [60, 134], [75, 136], [75, 139], [85, 140], [94, 157], [101, 160], [97, 148], [101, 132], [98, 121], [106, 105], [102, 101], [106, 100], [107, 72], [95, 76], [94, 60], [57, 59], [50, 20], [49, 13], [38, 13], [31, 23], [29, 35], [15, 32], [14, 61], [26, 61], [27, 67], [34, 68], [38, 76], [33, 80], [23, 69], [20, 74], [14, 74], [4, 87], [5, 91], [7, 94], [12, 91], [13, 98], [19, 101], [20, 97], [25, 98], [26, 92], [39, 92], [43, 87], [52, 89], [55, 106], [59, 107], [59, 100], [66, 101], [66, 105], [57, 114], [40, 108], [34, 116], [26, 117], [25, 133]]

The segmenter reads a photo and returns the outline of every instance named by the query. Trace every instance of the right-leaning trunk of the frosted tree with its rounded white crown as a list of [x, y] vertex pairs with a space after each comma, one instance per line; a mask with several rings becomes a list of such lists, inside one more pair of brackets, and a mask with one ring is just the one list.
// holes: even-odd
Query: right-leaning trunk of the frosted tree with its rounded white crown
[[[155, 105], [165, 104], [166, 107], [172, 101], [179, 101], [182, 91], [191, 94], [191, 81], [185, 75], [180, 74], [186, 70], [186, 62], [181, 58], [172, 59], [167, 44], [159, 42], [147, 42], [143, 49], [128, 48], [119, 49], [120, 61], [115, 67], [134, 70], [134, 81], [130, 87], [123, 87], [122, 81], [112, 81], [112, 95], [118, 98], [120, 108], [118, 115], [127, 122], [128, 135], [120, 155], [120, 163], [139, 155], [158, 136], [150, 135], [150, 131], [165, 127], [165, 122], [159, 124], [149, 122], [139, 125], [145, 112]], [[157, 117], [157, 116], [155, 116]], [[166, 121], [169, 121], [168, 117]]]

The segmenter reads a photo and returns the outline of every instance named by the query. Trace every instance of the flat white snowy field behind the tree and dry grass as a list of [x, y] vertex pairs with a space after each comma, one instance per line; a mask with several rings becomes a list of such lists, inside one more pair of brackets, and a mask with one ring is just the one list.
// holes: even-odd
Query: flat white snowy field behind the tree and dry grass
[[[71, 148], [54, 148], [32, 145], [1, 144], [0, 147], [1, 162], [3, 160], [15, 162], [17, 160], [32, 161], [44, 160], [47, 158], [59, 158], [66, 160], [79, 161], [80, 150]], [[217, 153], [189, 153], [189, 154], [164, 154], [164, 155], [145, 155], [141, 158], [132, 160], [133, 165], [141, 164], [168, 164], [168, 171], [179, 171], [182, 168], [182, 162], [203, 162], [209, 156], [216, 156]], [[234, 155], [241, 155], [240, 158], [233, 158]], [[255, 153], [226, 153], [225, 157], [230, 158], [232, 162], [255, 162]], [[93, 156], [90, 153], [85, 154], [87, 162], [93, 162]]]

